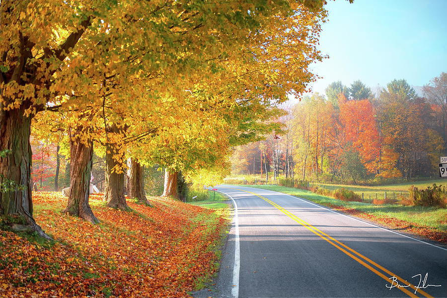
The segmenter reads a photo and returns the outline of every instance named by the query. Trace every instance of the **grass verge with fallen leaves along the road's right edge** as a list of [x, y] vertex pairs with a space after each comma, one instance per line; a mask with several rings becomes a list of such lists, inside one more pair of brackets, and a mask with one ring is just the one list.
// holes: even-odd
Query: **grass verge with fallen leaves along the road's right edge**
[[[331, 197], [318, 195], [311, 191], [277, 185], [237, 186], [261, 188], [286, 193], [320, 205], [348, 212], [354, 216], [364, 217], [368, 220], [387, 224], [399, 229], [407, 229], [408, 231], [417, 233], [421, 236], [447, 243], [447, 208], [345, 202]], [[362, 214], [365, 216], [362, 216]], [[407, 226], [405, 226], [405, 223]], [[432, 237], [430, 236], [431, 233], [436, 235]]]

